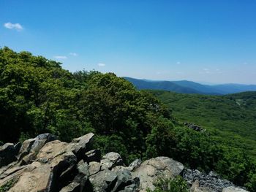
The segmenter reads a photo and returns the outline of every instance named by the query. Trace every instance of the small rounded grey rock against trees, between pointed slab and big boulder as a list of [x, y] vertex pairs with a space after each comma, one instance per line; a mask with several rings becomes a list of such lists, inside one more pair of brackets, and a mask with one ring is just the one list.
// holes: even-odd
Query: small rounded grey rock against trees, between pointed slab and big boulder
[[118, 153], [110, 152], [102, 157], [100, 164], [102, 169], [112, 169], [115, 166], [123, 165], [123, 159]]

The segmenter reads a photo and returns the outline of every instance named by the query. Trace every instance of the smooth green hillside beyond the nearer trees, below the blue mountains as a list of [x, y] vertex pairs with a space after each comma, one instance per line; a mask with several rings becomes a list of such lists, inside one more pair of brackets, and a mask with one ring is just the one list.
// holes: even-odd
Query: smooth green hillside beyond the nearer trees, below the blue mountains
[[256, 157], [256, 92], [226, 96], [150, 92], [170, 107], [178, 120], [218, 130], [216, 135], [228, 145], [242, 147]]

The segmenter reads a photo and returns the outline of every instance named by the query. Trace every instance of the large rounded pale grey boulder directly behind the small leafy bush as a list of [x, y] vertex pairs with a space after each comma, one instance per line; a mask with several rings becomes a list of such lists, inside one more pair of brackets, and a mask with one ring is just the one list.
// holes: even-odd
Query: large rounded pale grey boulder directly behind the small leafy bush
[[132, 177], [140, 178], [140, 191], [146, 191], [146, 188], [154, 191], [154, 183], [159, 178], [176, 177], [183, 169], [184, 166], [172, 158], [157, 157], [144, 161], [135, 172], [132, 172]]

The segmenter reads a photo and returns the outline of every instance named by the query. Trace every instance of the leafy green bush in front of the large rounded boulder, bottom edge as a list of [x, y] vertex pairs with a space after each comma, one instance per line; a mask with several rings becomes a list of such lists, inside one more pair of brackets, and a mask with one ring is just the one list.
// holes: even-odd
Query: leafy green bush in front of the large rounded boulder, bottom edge
[[154, 191], [148, 189], [147, 192], [189, 192], [187, 182], [179, 175], [170, 179], [161, 178], [154, 185]]

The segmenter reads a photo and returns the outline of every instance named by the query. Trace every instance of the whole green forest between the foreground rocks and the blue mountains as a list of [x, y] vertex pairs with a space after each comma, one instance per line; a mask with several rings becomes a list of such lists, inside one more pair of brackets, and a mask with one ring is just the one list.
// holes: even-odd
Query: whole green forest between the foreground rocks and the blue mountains
[[[208, 110], [214, 104], [216, 110]], [[94, 132], [95, 147], [102, 154], [120, 153], [126, 164], [165, 155], [256, 191], [254, 110], [255, 93], [208, 97], [138, 91], [113, 73], [72, 73], [42, 56], [0, 49], [1, 144], [46, 132], [69, 142]], [[204, 129], [195, 131], [184, 122]]]

